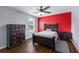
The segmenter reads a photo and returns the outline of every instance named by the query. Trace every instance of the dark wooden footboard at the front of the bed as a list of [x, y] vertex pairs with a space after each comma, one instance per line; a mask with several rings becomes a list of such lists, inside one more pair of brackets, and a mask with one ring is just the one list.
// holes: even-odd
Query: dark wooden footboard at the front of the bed
[[38, 43], [40, 45], [53, 48], [55, 50], [55, 37], [46, 38], [46, 37], [36, 36], [33, 34], [33, 44], [34, 43]]

